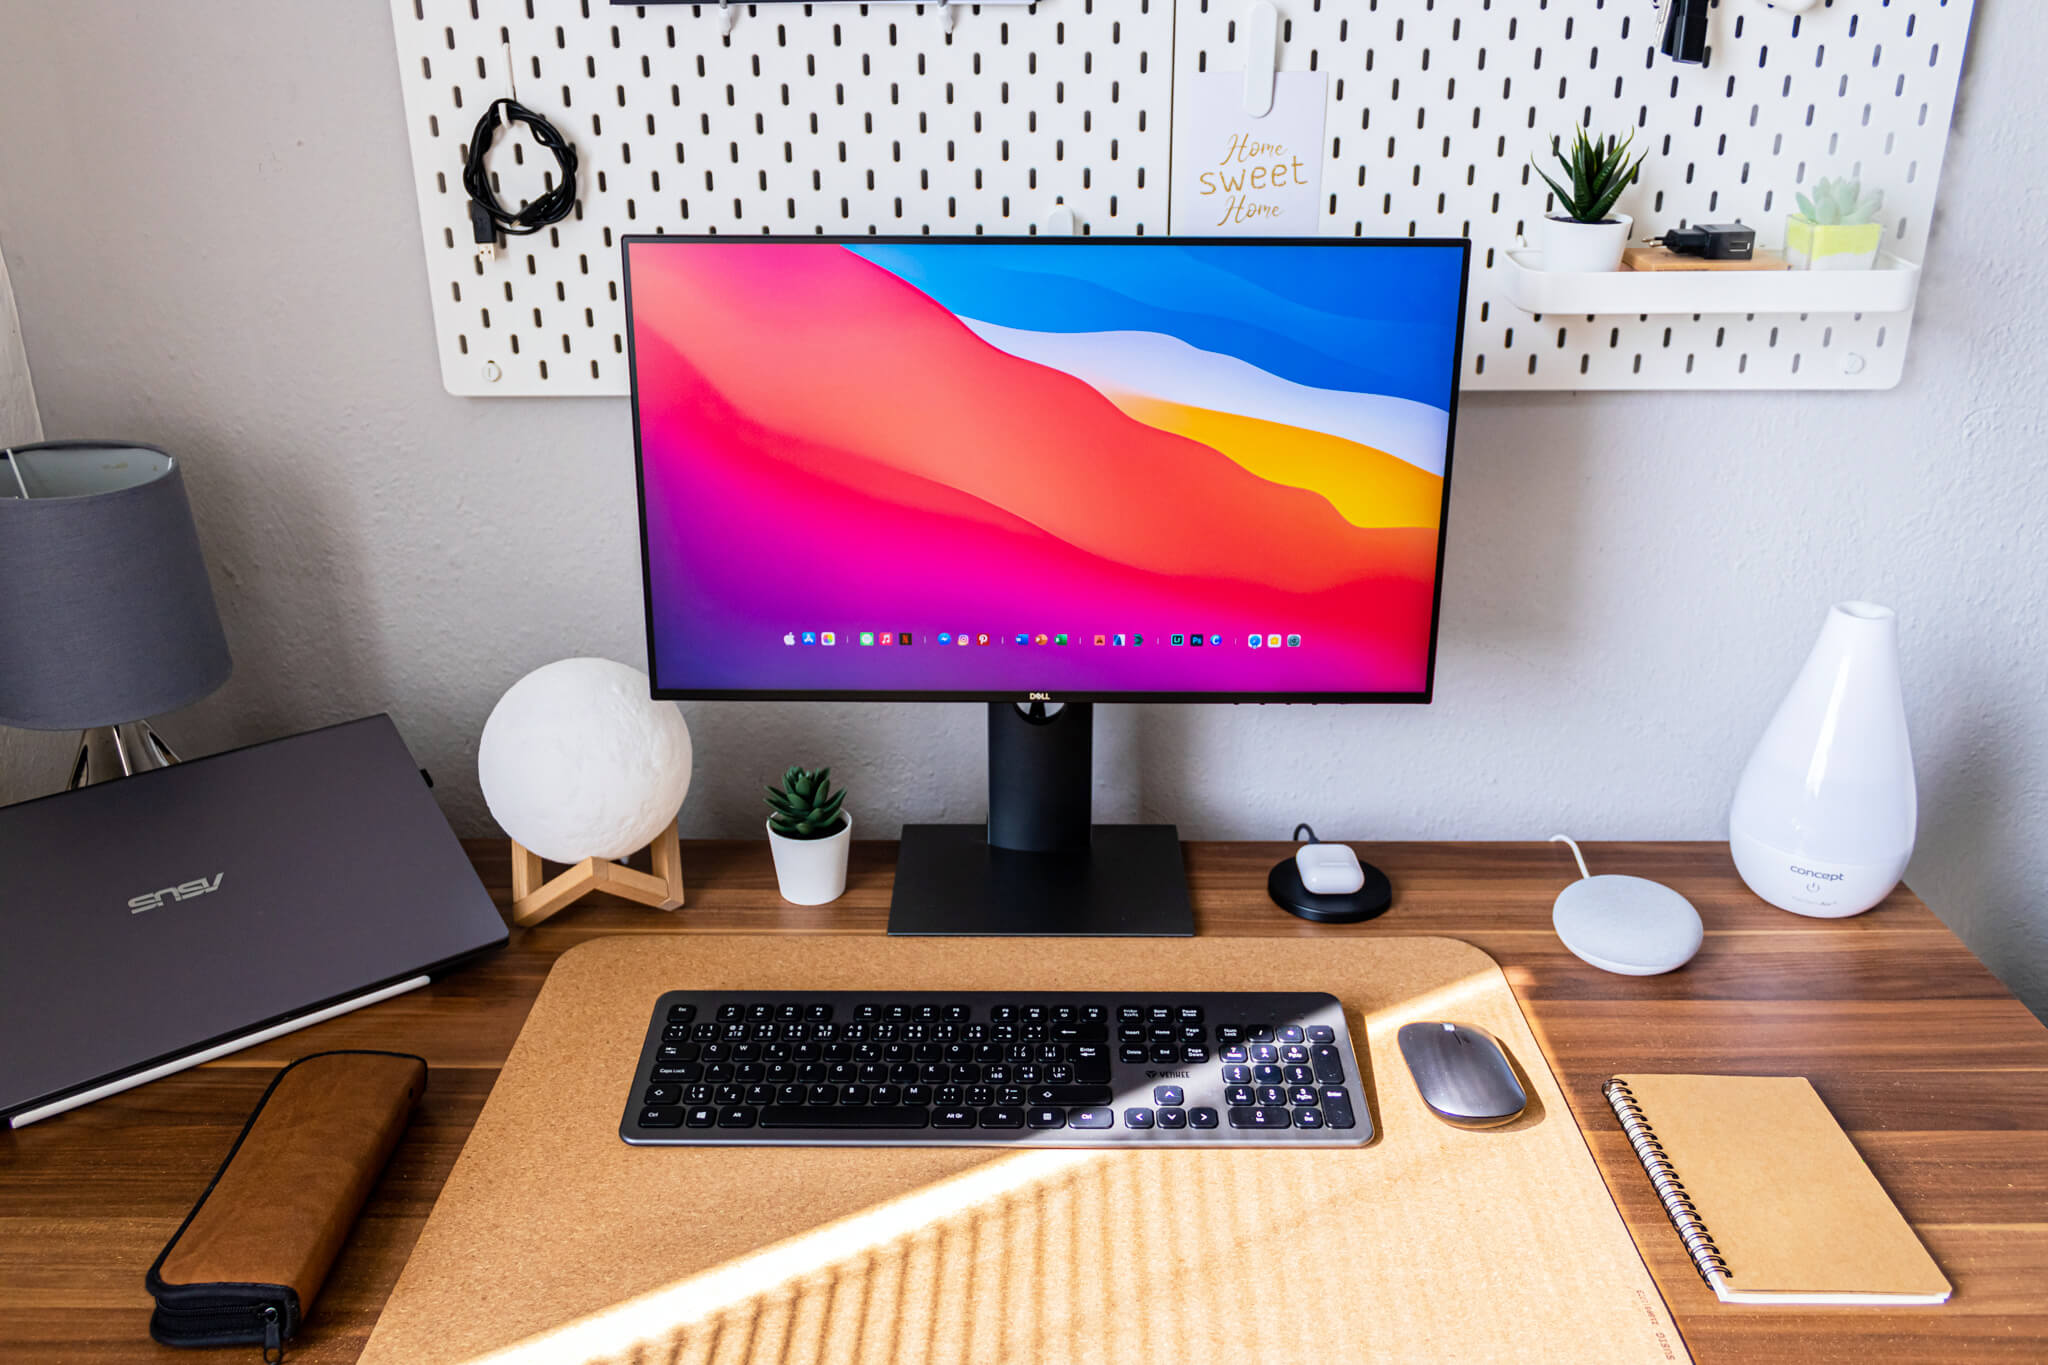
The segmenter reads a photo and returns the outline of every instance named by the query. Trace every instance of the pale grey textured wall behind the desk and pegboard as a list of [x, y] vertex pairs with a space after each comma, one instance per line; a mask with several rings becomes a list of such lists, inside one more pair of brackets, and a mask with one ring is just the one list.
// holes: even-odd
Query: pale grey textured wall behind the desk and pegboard
[[[524, 669], [643, 663], [623, 401], [440, 391], [381, 4], [12, 4], [0, 239], [53, 436], [188, 460], [236, 679], [199, 749], [389, 708], [485, 829], [475, 737]], [[2048, 1009], [2048, 10], [1980, 0], [1905, 383], [1468, 399], [1440, 702], [1112, 708], [1106, 817], [1194, 837], [1722, 835], [1837, 598], [1903, 616], [1911, 882]], [[831, 761], [862, 827], [973, 819], [971, 706], [690, 708], [690, 833]], [[4, 763], [4, 753], [0, 753]], [[55, 774], [14, 763], [25, 794]]]

